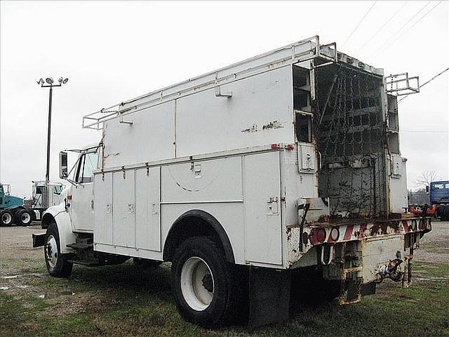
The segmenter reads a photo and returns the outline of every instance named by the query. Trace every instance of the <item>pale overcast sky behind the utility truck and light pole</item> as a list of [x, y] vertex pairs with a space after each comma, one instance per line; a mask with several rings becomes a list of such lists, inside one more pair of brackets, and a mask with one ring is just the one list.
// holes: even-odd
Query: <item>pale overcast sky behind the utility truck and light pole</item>
[[[424, 83], [449, 67], [449, 2], [426, 15], [436, 4], [378, 1], [344, 44], [373, 1], [1, 1], [0, 180], [22, 197], [31, 180], [44, 179], [41, 77], [69, 77], [53, 91], [58, 180], [60, 150], [100, 140], [81, 128], [84, 114], [315, 34], [385, 74], [409, 72]], [[403, 100], [399, 118], [409, 187], [424, 170], [448, 179], [449, 72]]]

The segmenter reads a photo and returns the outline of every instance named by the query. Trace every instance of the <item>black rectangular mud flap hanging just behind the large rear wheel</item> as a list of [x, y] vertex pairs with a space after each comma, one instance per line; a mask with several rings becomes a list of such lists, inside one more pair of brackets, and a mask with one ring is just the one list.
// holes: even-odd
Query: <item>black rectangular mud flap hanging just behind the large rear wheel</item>
[[288, 319], [291, 276], [288, 271], [250, 267], [248, 326]]

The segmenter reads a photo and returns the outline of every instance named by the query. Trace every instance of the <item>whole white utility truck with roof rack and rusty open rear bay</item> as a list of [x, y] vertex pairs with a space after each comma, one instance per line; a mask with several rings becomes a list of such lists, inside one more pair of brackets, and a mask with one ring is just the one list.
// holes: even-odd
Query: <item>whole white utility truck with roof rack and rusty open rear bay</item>
[[414, 80], [312, 37], [88, 114], [101, 142], [70, 178], [61, 152], [71, 185], [34, 246], [55, 277], [170, 261], [180, 314], [203, 326], [407, 286], [431, 230], [405, 213], [396, 95]]

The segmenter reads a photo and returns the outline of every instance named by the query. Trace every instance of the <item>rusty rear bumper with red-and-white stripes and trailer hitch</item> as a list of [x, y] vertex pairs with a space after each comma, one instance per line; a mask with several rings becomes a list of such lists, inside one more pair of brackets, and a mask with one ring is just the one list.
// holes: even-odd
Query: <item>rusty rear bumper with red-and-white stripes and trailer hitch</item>
[[311, 223], [300, 230], [288, 228], [287, 268], [318, 266], [323, 279], [340, 281], [346, 304], [387, 278], [410, 286], [413, 251], [431, 230], [431, 218]]

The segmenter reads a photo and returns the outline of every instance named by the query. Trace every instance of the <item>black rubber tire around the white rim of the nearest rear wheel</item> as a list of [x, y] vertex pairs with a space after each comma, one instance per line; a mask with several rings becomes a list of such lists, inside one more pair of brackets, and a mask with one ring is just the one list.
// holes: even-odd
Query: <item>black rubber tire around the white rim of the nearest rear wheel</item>
[[[185, 298], [181, 285], [183, 267], [189, 265], [188, 261], [192, 262], [195, 259], [199, 259], [202, 261], [200, 263], [206, 264], [210, 271], [208, 275], [211, 276], [206, 275], [201, 280], [203, 288], [206, 291], [212, 289], [213, 293], [210, 303], [201, 310], [196, 310], [192, 308], [191, 304], [187, 303], [186, 298], [192, 300], [195, 296]], [[185, 320], [204, 327], [217, 327], [239, 322], [237, 319], [244, 316], [241, 315], [241, 309], [244, 307], [244, 305], [241, 305], [242, 300], [244, 300], [244, 296], [241, 296], [243, 287], [236, 274], [236, 267], [227, 262], [222, 249], [218, 248], [217, 244], [209, 237], [186, 239], [177, 248], [175, 256], [173, 256], [171, 272], [172, 291], [177, 310]], [[192, 275], [196, 275], [196, 271]], [[189, 277], [185, 279], [189, 279]], [[183, 284], [183, 289], [185, 289], [187, 283], [194, 284], [193, 276], [192, 282]], [[196, 295], [195, 291], [191, 293]]]

